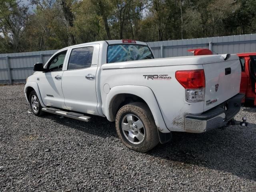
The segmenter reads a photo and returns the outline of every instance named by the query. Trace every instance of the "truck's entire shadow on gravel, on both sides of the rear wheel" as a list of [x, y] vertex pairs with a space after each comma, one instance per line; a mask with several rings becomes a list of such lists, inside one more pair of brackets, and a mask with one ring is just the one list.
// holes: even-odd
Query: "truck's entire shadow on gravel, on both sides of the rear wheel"
[[[117, 137], [114, 122], [106, 118], [94, 116], [90, 122], [53, 115], [43, 118], [102, 138]], [[170, 166], [176, 165], [181, 169], [193, 171], [192, 166], [203, 166], [255, 181], [256, 136], [249, 136], [249, 131], [240, 127], [227, 127], [203, 134], [174, 132], [170, 142], [158, 144], [147, 154], [165, 159]]]

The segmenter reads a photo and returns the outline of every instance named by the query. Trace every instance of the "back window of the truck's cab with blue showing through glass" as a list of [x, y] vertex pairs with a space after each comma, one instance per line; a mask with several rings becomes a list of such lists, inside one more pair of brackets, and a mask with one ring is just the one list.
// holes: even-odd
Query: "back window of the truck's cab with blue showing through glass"
[[108, 46], [107, 63], [153, 59], [148, 46], [136, 44], [116, 44]]

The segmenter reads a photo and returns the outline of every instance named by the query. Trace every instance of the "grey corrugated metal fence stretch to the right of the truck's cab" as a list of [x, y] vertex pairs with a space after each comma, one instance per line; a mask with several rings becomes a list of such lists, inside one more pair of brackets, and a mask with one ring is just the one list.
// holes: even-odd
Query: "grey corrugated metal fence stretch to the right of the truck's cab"
[[188, 49], [209, 48], [210, 42], [214, 54], [256, 52], [256, 34], [148, 42], [148, 45], [155, 58], [160, 58], [161, 45], [164, 48], [164, 57], [176, 57], [192, 55]]

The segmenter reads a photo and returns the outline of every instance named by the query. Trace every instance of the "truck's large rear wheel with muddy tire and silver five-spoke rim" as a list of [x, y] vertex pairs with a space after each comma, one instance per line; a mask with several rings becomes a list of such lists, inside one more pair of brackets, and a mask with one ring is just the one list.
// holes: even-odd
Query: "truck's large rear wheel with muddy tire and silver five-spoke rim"
[[[130, 119], [130, 115], [132, 115], [132, 117], [134, 118], [133, 122], [138, 122], [137, 118], [142, 122], [144, 126], [144, 134], [142, 132], [142, 128], [140, 131], [142, 132], [142, 135], [144, 135], [144, 139], [139, 140], [136, 138], [135, 135], [135, 139], [133, 139], [133, 142], [129, 140], [129, 135], [134, 136], [135, 134], [134, 129], [130, 127], [130, 124], [128, 122], [128, 118]], [[125, 128], [127, 128], [128, 126], [129, 131], [123, 130], [122, 125]], [[134, 126], [133, 123], [131, 123], [131, 125]], [[137, 134], [140, 131], [137, 130]], [[116, 114], [116, 132], [125, 146], [138, 152], [148, 152], [159, 143], [158, 130], [154, 122], [154, 118], [148, 106], [142, 102], [133, 102], [122, 106], [118, 110]], [[136, 142], [136, 139], [138, 140], [138, 142]]]

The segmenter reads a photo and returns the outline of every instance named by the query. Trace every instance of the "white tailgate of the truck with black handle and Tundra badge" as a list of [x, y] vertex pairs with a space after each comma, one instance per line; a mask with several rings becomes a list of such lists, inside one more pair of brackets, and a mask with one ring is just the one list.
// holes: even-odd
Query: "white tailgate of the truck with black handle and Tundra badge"
[[241, 81], [241, 66], [236, 54], [224, 60], [203, 64], [205, 74], [204, 111], [207, 111], [239, 93]]

